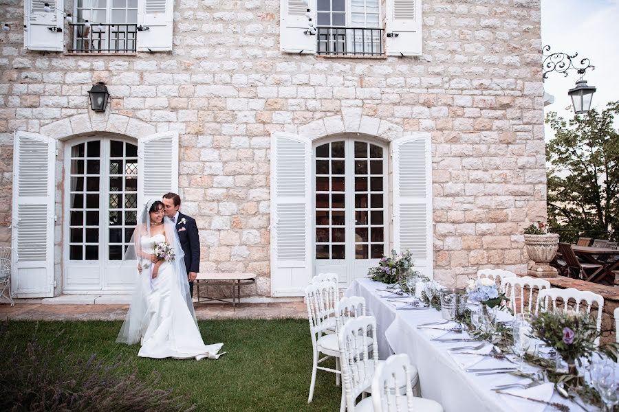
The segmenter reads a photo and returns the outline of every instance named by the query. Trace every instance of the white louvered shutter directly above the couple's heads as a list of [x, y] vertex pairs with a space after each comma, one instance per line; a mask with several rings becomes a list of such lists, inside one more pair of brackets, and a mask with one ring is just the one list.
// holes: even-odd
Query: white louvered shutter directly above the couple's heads
[[138, 210], [151, 198], [178, 193], [178, 133], [138, 139]]

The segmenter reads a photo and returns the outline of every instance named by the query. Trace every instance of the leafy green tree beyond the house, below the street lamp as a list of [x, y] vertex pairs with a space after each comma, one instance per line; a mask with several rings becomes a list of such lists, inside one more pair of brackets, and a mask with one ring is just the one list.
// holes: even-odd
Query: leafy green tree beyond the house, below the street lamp
[[[546, 116], [555, 136], [546, 146], [547, 211], [553, 227], [619, 234], [619, 133], [614, 128], [619, 101], [598, 113], [575, 115], [567, 122], [556, 112]], [[577, 236], [577, 235], [576, 235]], [[605, 237], [608, 238], [608, 237]], [[565, 238], [563, 239], [566, 240]]]

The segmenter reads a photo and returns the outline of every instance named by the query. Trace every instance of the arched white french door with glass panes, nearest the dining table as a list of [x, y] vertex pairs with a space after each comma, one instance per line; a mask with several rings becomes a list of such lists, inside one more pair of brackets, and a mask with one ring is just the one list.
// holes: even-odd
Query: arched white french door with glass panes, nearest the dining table
[[340, 284], [367, 275], [389, 239], [387, 147], [337, 138], [314, 147], [314, 275]]

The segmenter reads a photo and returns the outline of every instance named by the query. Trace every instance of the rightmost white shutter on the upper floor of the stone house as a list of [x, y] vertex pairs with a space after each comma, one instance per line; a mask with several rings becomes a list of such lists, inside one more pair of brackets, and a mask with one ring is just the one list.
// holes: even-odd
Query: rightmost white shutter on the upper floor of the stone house
[[389, 56], [422, 54], [421, 0], [387, 0], [386, 49]]

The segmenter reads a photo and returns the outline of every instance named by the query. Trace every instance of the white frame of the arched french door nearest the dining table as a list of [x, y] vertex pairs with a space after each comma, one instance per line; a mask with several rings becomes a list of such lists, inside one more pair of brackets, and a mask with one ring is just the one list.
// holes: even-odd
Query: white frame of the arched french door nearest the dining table
[[[362, 135], [336, 135], [329, 136], [322, 139], [316, 139], [312, 141], [312, 171], [311, 171], [311, 179], [312, 179], [312, 277], [318, 275], [316, 273], [316, 147], [322, 146], [323, 144], [332, 143], [334, 141], [345, 141], [345, 219], [346, 219], [346, 244], [345, 244], [345, 271], [346, 271], [346, 279], [344, 282], [340, 284], [344, 284], [348, 286], [351, 284], [356, 277], [363, 277], [367, 275], [367, 273], [363, 273], [362, 275], [356, 274], [356, 250], [355, 250], [355, 196], [354, 196], [354, 184], [355, 184], [355, 173], [354, 173], [354, 142], [355, 141], [363, 141], [367, 144], [373, 144], [375, 146], [379, 146], [382, 148], [382, 176], [383, 176], [383, 225], [384, 225], [384, 253], [389, 254], [389, 247], [391, 245], [390, 242], [390, 233], [391, 233], [391, 212], [389, 209], [389, 205], [391, 205], [391, 194], [393, 191], [391, 190], [391, 184], [393, 179], [391, 179], [389, 173], [389, 159], [391, 158], [391, 145], [389, 142], [382, 141], [381, 139], [376, 139], [372, 137], [366, 137]], [[368, 172], [369, 173], [369, 172]], [[370, 192], [370, 181], [368, 180], [368, 192]], [[370, 202], [370, 196], [368, 195], [368, 210]], [[370, 236], [371, 231], [369, 227], [370, 223], [370, 213], [368, 212], [368, 260], [372, 260], [371, 249], [369, 247], [370, 244]], [[376, 263], [378, 264], [378, 259], [376, 259]]]

